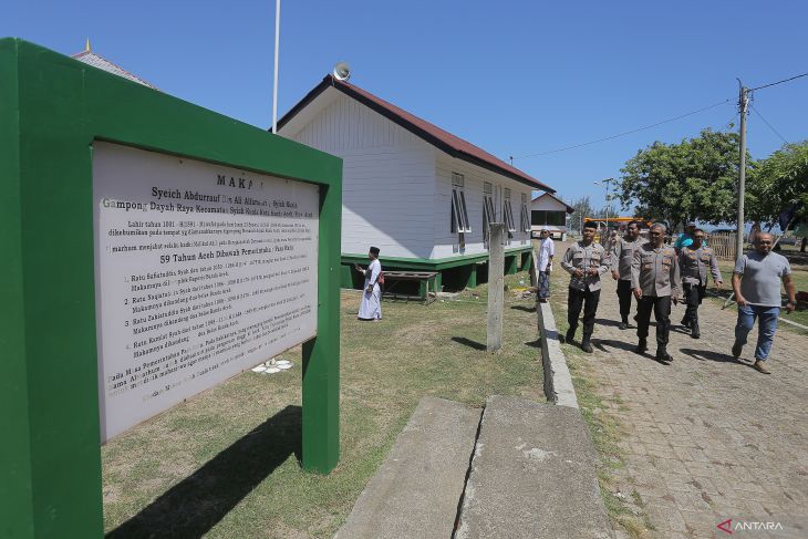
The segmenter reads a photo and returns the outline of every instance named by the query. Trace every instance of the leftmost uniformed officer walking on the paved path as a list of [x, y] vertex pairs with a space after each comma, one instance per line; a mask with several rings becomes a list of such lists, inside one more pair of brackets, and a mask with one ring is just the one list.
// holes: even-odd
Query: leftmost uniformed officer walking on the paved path
[[598, 226], [594, 222], [583, 225], [583, 239], [573, 243], [563, 256], [561, 267], [569, 272], [569, 294], [567, 298], [567, 321], [570, 324], [567, 330], [567, 342], [572, 342], [578, 329], [578, 317], [583, 308], [583, 339], [581, 350], [592, 353], [592, 344], [589, 342], [594, 330], [594, 313], [598, 311], [600, 301], [600, 276], [609, 271], [610, 259], [603, 246], [594, 242], [594, 234]]

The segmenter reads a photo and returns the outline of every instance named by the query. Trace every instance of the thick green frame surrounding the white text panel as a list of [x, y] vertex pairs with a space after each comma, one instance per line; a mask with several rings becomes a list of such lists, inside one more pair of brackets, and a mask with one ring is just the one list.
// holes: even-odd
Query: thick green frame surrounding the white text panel
[[342, 160], [0, 39], [0, 537], [104, 532], [96, 139], [320, 186], [318, 335], [303, 344], [302, 466], [327, 474], [339, 460]]

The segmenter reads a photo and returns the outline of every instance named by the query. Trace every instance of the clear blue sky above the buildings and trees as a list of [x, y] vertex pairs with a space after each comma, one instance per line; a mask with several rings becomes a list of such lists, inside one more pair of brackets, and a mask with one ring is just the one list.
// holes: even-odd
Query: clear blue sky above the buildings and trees
[[[8, 1], [8, 0], [7, 0]], [[808, 72], [802, 0], [291, 1], [281, 13], [279, 115], [336, 61], [351, 82], [507, 159], [573, 199], [603, 189], [639, 148], [737, 124], [754, 87]], [[271, 124], [274, 0], [11, 0], [0, 37], [64, 54], [93, 50], [163, 91]], [[756, 93], [787, 141], [808, 138], [808, 77]], [[525, 157], [729, 103], [652, 129]], [[783, 141], [750, 113], [748, 145]]]

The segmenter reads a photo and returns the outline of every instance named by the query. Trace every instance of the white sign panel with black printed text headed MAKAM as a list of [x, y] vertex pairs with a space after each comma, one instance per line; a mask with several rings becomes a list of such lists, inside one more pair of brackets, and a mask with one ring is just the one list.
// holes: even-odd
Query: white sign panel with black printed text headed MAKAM
[[319, 188], [93, 146], [101, 437], [317, 332]]

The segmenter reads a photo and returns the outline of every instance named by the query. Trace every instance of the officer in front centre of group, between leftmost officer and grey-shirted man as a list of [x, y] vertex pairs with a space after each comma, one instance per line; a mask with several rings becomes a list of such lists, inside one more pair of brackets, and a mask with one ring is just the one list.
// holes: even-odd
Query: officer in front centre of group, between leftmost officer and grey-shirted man
[[634, 252], [631, 263], [631, 286], [636, 305], [636, 352], [648, 350], [651, 311], [656, 319], [656, 361], [671, 362], [667, 338], [671, 332], [671, 301], [678, 301], [678, 259], [673, 247], [664, 246], [665, 226], [651, 226], [650, 241]]

